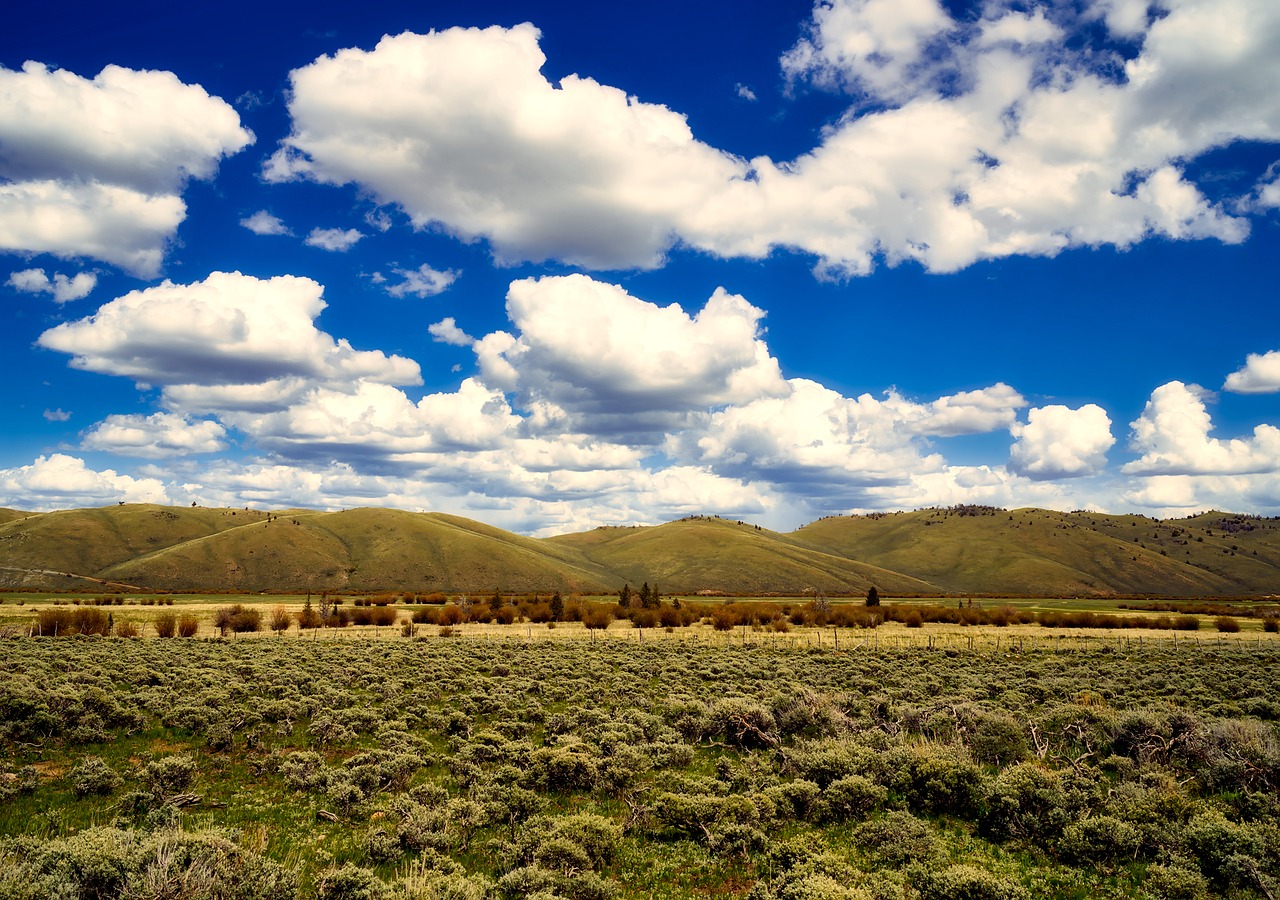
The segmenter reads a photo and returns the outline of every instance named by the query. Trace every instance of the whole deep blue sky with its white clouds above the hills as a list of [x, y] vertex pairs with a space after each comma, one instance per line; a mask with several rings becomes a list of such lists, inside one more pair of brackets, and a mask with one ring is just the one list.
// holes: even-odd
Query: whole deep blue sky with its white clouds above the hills
[[0, 506], [1280, 515], [1271, 0], [6, 19]]

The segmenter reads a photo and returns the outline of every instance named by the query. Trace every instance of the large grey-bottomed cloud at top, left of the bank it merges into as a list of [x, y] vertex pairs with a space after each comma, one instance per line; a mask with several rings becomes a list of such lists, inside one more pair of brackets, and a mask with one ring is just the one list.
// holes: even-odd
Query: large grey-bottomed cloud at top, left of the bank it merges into
[[358, 183], [506, 259], [655, 265], [682, 211], [742, 165], [664, 106], [590, 78], [552, 84], [538, 37], [404, 33], [296, 69], [293, 133], [264, 174]]

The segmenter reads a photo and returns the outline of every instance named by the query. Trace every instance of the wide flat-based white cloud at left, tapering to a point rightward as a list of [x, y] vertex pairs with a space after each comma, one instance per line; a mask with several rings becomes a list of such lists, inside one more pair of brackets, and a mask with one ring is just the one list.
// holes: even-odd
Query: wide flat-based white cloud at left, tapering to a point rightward
[[227, 398], [269, 389], [279, 402], [282, 388], [302, 383], [421, 382], [411, 360], [357, 351], [317, 330], [323, 292], [292, 275], [214, 273], [193, 284], [164, 282], [58, 325], [38, 343], [70, 353], [77, 369], [163, 385], [175, 405], [183, 397], [198, 403], [201, 389]]

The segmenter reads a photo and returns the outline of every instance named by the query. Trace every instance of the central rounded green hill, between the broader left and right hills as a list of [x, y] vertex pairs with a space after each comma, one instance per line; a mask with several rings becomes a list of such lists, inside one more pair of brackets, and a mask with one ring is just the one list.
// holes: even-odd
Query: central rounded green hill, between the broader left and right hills
[[786, 535], [696, 516], [657, 527], [608, 527], [547, 543], [573, 547], [632, 585], [678, 591], [937, 593], [937, 588], [846, 556], [797, 545]]

